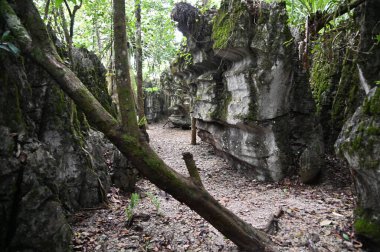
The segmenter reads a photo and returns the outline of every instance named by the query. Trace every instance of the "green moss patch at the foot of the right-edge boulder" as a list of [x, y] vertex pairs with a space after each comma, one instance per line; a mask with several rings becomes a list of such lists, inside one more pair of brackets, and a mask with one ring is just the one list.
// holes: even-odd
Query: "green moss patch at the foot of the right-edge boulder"
[[371, 216], [373, 214], [369, 210], [356, 209], [354, 229], [356, 234], [380, 243], [380, 221]]

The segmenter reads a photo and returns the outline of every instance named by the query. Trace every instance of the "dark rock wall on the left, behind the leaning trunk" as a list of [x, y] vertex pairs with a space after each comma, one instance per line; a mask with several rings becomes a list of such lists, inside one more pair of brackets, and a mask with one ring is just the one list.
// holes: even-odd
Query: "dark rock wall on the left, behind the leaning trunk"
[[[83, 49], [75, 55], [82, 81], [115, 113], [100, 61]], [[4, 50], [0, 68], [0, 248], [68, 251], [67, 213], [106, 200], [120, 153], [42, 68]]]

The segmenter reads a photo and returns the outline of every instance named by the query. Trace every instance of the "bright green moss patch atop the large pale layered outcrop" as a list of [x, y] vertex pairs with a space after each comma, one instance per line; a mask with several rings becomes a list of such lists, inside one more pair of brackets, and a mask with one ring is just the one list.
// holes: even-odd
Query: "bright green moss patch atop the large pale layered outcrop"
[[239, 22], [245, 17], [244, 13], [248, 13], [247, 7], [240, 1], [234, 0], [231, 10], [228, 9], [228, 5], [222, 5], [213, 19], [212, 40], [214, 41], [214, 49], [228, 47], [236, 30], [243, 29], [239, 26]]

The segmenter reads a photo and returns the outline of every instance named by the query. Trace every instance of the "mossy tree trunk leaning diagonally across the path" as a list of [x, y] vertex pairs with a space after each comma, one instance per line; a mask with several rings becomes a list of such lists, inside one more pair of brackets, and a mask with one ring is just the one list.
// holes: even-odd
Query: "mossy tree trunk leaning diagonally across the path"
[[[12, 9], [6, 0], [0, 0], [0, 13], [22, 51], [52, 76], [86, 114], [92, 125], [97, 125], [98, 130], [106, 135], [143, 176], [196, 211], [244, 251], [275, 250], [266, 233], [253, 228], [220, 205], [199, 183], [168, 167], [146, 142], [128, 134], [77, 76], [62, 63], [32, 1], [16, 0], [16, 3]], [[19, 14], [22, 22], [15, 13]]]

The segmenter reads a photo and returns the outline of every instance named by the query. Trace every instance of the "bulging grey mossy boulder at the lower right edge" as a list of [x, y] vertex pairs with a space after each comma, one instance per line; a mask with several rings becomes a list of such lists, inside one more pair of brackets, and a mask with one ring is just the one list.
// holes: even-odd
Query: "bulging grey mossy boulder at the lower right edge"
[[380, 114], [372, 105], [379, 99], [373, 88], [362, 106], [344, 125], [336, 150], [353, 170], [358, 194], [355, 231], [370, 243], [380, 246]]

